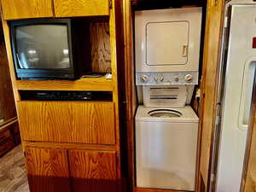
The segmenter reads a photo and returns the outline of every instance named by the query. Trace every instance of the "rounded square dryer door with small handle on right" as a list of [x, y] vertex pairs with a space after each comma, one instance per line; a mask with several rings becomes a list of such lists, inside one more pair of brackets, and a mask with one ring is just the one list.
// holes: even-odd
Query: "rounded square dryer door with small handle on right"
[[148, 23], [146, 36], [147, 65], [185, 65], [187, 63], [188, 21]]

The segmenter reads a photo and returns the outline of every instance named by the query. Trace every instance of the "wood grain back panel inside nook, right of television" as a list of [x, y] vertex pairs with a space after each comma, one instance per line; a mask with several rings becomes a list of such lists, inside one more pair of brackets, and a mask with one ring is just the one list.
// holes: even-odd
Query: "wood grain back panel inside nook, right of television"
[[93, 72], [111, 72], [111, 49], [108, 22], [90, 23], [91, 68]]

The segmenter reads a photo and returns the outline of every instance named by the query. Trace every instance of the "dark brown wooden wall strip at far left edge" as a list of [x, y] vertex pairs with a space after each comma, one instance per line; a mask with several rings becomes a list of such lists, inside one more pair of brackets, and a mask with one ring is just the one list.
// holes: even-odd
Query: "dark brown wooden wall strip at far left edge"
[[16, 117], [16, 109], [2, 26], [0, 33], [0, 119], [7, 121]]

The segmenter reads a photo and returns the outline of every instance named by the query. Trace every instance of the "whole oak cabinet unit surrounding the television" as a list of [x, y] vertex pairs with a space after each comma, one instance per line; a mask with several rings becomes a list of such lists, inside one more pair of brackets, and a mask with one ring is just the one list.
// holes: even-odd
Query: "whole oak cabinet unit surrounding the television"
[[[117, 182], [122, 180], [119, 135], [119, 104], [122, 101], [119, 99], [118, 79], [118, 66], [121, 67], [122, 62], [118, 55], [121, 55], [119, 53], [122, 52], [123, 44], [117, 41], [119, 38], [116, 37], [116, 34], [122, 34], [122, 27], [116, 27], [120, 26], [116, 18], [121, 19], [121, 15], [117, 14], [121, 10], [121, 2], [111, 0], [113, 4], [110, 9], [108, 0], [0, 1], [3, 3], [4, 38], [9, 55], [9, 71], [14, 87], [21, 139], [26, 152], [30, 191], [117, 191]], [[8, 20], [79, 16], [89, 16], [81, 20], [86, 21], [86, 27], [90, 23], [90, 36], [93, 36], [90, 41], [92, 50], [84, 50], [84, 56], [90, 57], [91, 52], [97, 52], [99, 49], [93, 60], [98, 60], [97, 55], [102, 55], [104, 60], [99, 64], [104, 69], [111, 69], [112, 79], [16, 79]], [[100, 22], [104, 23], [103, 27], [95, 25]], [[106, 28], [106, 38], [98, 39], [95, 27]], [[102, 49], [107, 54], [102, 54]], [[124, 73], [120, 74], [123, 76]], [[99, 98], [100, 101], [96, 99], [94, 102], [62, 102], [38, 101], [38, 98], [22, 96], [23, 91], [32, 93], [32, 90], [102, 91], [102, 97]], [[106, 97], [105, 92], [108, 92]]]

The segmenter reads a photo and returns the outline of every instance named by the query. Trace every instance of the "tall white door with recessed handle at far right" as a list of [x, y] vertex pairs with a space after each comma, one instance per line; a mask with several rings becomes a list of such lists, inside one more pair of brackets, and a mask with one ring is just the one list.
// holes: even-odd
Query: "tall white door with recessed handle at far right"
[[225, 74], [217, 192], [239, 192], [256, 65], [256, 5], [233, 5]]

